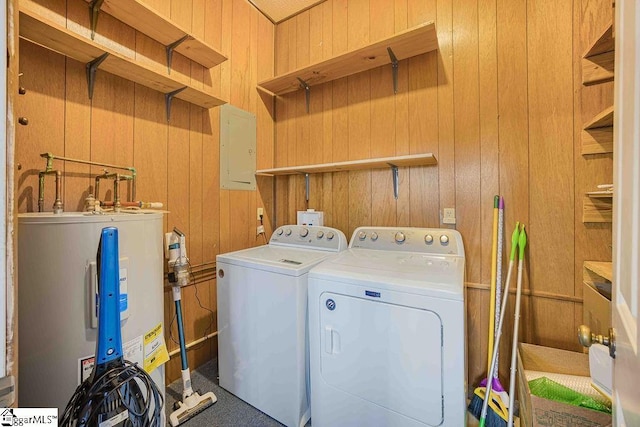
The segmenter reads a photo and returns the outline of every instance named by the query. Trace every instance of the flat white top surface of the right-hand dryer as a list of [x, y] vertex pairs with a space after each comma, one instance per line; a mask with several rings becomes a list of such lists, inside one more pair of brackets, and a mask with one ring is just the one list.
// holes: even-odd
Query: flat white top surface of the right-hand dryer
[[462, 300], [464, 258], [348, 249], [314, 267], [309, 278]]

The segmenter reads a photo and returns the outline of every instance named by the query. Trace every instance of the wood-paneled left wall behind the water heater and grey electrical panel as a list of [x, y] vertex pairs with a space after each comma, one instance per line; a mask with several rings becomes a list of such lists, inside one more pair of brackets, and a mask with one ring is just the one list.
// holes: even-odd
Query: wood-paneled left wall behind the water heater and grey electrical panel
[[[88, 33], [87, 4], [78, 0], [39, 0], [51, 18], [67, 28]], [[194, 85], [209, 89], [230, 104], [257, 115], [258, 167], [271, 165], [274, 125], [272, 102], [261, 101], [259, 80], [273, 75], [274, 26], [246, 0], [148, 0], [151, 7], [223, 52], [229, 60], [206, 70], [179, 54], [174, 73], [190, 76]], [[133, 53], [137, 60], [165, 63], [164, 47], [101, 14], [98, 38], [114, 49]], [[183, 290], [187, 342], [216, 330], [216, 287], [212, 273], [221, 252], [262, 243], [256, 239], [256, 208], [273, 210], [273, 185], [259, 191], [223, 191], [219, 186], [219, 110], [205, 110], [174, 100], [167, 123], [163, 94], [98, 71], [93, 99], [87, 96], [85, 64], [20, 42], [20, 84], [27, 94], [17, 99], [19, 116], [29, 125], [16, 132], [16, 199], [20, 212], [37, 211], [37, 173], [45, 166], [40, 153], [134, 166], [137, 198], [160, 201], [169, 211], [165, 229], [174, 226], [187, 235], [196, 285]], [[68, 211], [82, 210], [93, 192], [101, 168], [56, 163], [64, 168], [64, 202]], [[106, 185], [105, 185], [106, 187]], [[53, 183], [47, 181], [46, 209], [53, 203]], [[104, 188], [104, 187], [103, 187]], [[105, 198], [102, 190], [102, 198]], [[106, 198], [111, 197], [107, 191]], [[265, 218], [267, 232], [271, 216]], [[199, 272], [199, 273], [198, 273]], [[211, 309], [211, 313], [200, 307]], [[171, 292], [165, 289], [165, 325], [174, 316]], [[207, 330], [208, 328], [208, 330]], [[177, 339], [175, 324], [172, 335]], [[177, 344], [171, 342], [170, 350]], [[194, 368], [217, 354], [217, 341], [189, 351]], [[180, 377], [179, 357], [167, 365], [168, 381]]]

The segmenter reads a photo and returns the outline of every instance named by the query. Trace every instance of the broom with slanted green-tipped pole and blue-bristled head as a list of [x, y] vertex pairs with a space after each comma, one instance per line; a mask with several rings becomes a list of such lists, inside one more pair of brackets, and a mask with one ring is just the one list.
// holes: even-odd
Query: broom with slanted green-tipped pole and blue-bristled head
[[[511, 281], [511, 273], [513, 272], [513, 266], [516, 256], [516, 248], [518, 247], [519, 239], [519, 226], [520, 223], [516, 223], [516, 227], [511, 235], [511, 256], [509, 257], [509, 269], [507, 272], [507, 280], [505, 281], [504, 292], [502, 295], [502, 310], [500, 311], [500, 319], [498, 321], [498, 330], [496, 333], [496, 341], [493, 346], [492, 356], [489, 359], [489, 378], [485, 387], [477, 387], [474, 390], [471, 403], [469, 403], [469, 412], [480, 420], [480, 426], [489, 425], [492, 427], [506, 426], [509, 411], [507, 409], [508, 397], [504, 396], [503, 392], [496, 392], [493, 390], [494, 386], [494, 370], [497, 365], [497, 353], [500, 346], [500, 336], [502, 334], [502, 323], [504, 314], [506, 312], [507, 298], [509, 295], [509, 282]], [[487, 398], [489, 396], [489, 398]], [[503, 400], [504, 399], [504, 400]], [[488, 411], [491, 408], [491, 411]]]

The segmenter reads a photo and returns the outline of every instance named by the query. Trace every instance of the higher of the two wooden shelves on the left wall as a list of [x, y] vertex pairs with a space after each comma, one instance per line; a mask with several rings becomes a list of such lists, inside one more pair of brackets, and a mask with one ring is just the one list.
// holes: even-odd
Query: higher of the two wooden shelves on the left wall
[[[86, 1], [90, 2], [91, 0]], [[206, 68], [215, 67], [227, 60], [226, 56], [212, 46], [189, 34], [138, 0], [104, 0], [100, 10], [157, 40], [164, 46], [169, 46], [186, 36], [186, 39], [178, 44], [174, 51]]]

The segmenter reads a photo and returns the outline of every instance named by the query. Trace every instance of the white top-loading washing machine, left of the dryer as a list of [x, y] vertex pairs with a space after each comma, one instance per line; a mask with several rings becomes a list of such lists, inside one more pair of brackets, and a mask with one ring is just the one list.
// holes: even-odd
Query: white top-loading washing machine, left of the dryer
[[346, 247], [340, 230], [287, 225], [216, 258], [220, 386], [289, 427], [310, 417], [308, 272]]

